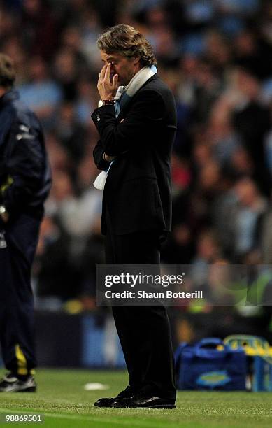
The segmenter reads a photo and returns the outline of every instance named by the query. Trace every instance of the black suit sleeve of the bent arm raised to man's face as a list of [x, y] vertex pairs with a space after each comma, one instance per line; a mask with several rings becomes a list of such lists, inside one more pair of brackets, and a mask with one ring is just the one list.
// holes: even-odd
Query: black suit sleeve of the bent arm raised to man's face
[[155, 90], [143, 90], [131, 101], [131, 108], [123, 121], [115, 118], [111, 105], [96, 108], [92, 120], [99, 131], [104, 152], [109, 156], [118, 156], [139, 148], [143, 134], [151, 137], [163, 122], [164, 112], [162, 95]]

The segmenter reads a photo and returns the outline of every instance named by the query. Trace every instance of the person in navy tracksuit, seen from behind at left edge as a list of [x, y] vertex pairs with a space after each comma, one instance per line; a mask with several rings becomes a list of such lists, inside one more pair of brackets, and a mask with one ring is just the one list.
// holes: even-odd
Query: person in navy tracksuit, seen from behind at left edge
[[51, 185], [41, 124], [14, 81], [13, 62], [0, 53], [0, 343], [9, 371], [0, 392], [36, 390], [30, 273]]

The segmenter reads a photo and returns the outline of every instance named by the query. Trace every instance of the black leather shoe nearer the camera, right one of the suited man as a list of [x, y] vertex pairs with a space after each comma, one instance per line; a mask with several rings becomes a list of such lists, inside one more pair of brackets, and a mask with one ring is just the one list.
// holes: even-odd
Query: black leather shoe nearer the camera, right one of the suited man
[[116, 399], [111, 407], [176, 408], [175, 400], [138, 395], [128, 399]]

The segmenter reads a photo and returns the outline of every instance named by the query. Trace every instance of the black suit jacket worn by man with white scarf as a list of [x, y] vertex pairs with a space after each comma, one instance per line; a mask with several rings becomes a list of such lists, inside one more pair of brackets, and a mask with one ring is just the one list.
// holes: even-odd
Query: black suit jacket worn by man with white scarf
[[117, 235], [171, 229], [171, 150], [176, 133], [172, 92], [152, 76], [115, 118], [114, 106], [96, 108], [92, 120], [100, 140], [94, 162], [108, 169], [103, 152], [116, 156], [105, 189], [101, 231], [106, 234], [106, 209]]

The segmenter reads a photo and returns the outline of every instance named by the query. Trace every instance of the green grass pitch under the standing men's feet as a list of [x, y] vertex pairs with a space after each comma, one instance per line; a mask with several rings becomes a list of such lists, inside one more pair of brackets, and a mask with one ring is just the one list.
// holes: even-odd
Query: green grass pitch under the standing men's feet
[[[272, 427], [272, 393], [178, 392], [176, 410], [97, 408], [99, 397], [112, 397], [127, 385], [124, 371], [48, 370], [36, 374], [38, 392], [0, 393], [0, 420], [5, 414], [41, 414], [44, 423], [9, 426], [171, 428]], [[110, 386], [85, 391], [85, 383]], [[0, 423], [0, 427], [1, 427]], [[8, 426], [8, 425], [2, 425]]]

